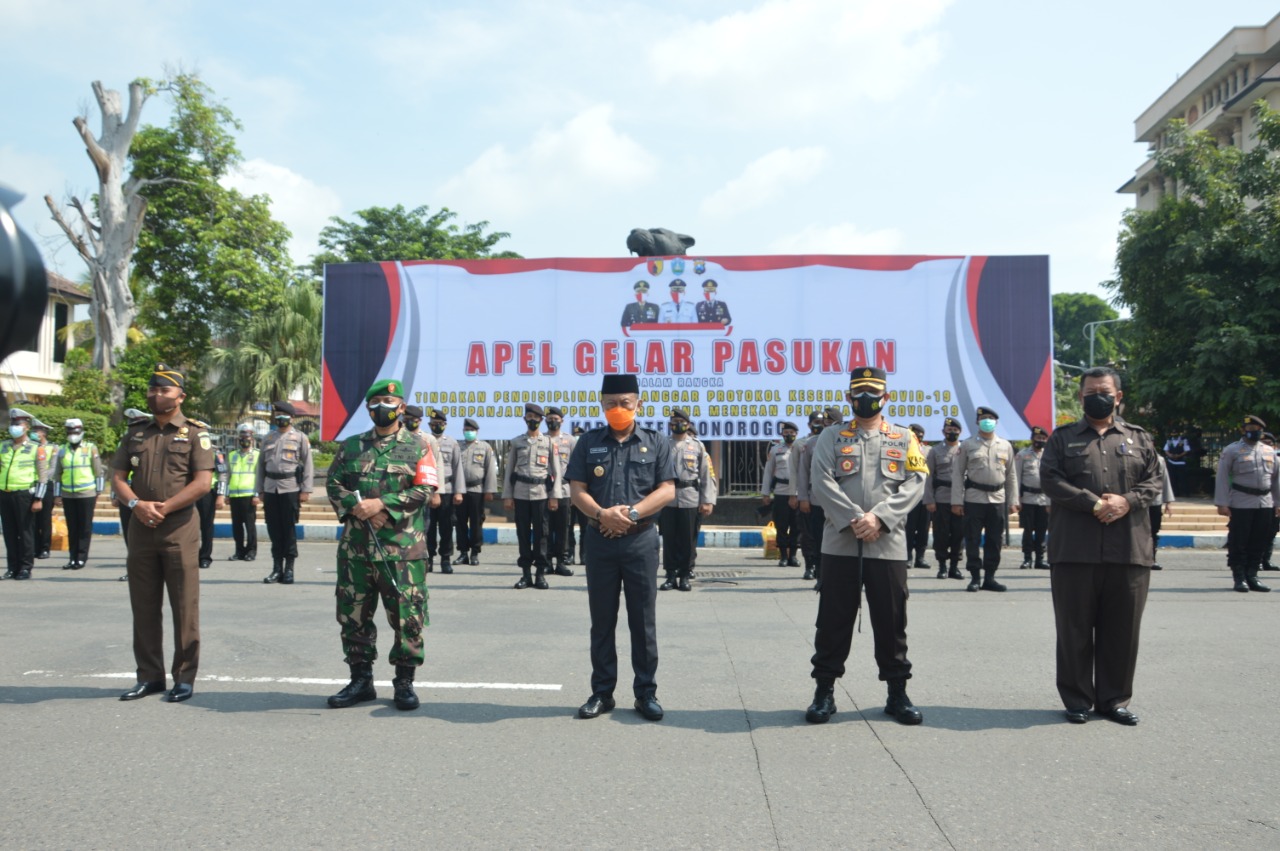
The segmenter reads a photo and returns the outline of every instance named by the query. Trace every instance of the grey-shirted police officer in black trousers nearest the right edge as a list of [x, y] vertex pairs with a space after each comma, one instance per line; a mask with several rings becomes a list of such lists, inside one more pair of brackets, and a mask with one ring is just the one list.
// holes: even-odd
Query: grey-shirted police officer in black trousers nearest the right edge
[[1276, 450], [1262, 443], [1267, 424], [1244, 417], [1244, 434], [1222, 450], [1217, 462], [1213, 504], [1228, 517], [1226, 563], [1236, 591], [1270, 591], [1258, 581], [1272, 518], [1280, 512], [1280, 465]]

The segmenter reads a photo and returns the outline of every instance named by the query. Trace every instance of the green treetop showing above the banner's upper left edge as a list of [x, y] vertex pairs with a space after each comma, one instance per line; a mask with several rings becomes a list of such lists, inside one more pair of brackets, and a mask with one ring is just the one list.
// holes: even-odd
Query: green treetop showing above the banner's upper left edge
[[494, 246], [509, 233], [485, 233], [488, 221], [458, 225], [458, 214], [448, 207], [431, 212], [421, 206], [406, 210], [369, 207], [357, 210], [356, 220], [330, 219], [320, 232], [324, 248], [311, 258], [311, 274], [320, 280], [325, 264], [376, 262], [383, 260], [476, 260], [484, 257], [518, 257], [511, 251], [494, 252]]

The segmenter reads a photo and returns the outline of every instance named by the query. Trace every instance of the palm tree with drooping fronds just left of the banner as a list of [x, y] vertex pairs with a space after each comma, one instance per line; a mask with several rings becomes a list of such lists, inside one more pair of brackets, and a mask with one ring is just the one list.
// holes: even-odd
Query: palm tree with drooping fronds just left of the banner
[[210, 407], [239, 418], [255, 402], [287, 399], [294, 389], [320, 395], [320, 330], [324, 302], [310, 283], [284, 290], [279, 310], [264, 311], [215, 346], [209, 365], [218, 381]]

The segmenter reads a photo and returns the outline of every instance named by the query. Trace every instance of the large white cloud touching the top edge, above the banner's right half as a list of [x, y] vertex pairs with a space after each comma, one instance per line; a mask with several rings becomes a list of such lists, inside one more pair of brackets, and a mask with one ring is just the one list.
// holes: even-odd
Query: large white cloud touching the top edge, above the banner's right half
[[838, 111], [901, 96], [942, 55], [951, 0], [768, 0], [676, 28], [649, 51], [662, 83], [740, 119]]

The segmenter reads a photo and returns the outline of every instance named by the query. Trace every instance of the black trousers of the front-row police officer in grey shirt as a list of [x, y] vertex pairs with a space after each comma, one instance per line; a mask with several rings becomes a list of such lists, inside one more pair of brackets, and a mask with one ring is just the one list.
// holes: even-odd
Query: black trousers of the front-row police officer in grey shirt
[[906, 562], [856, 555], [822, 554], [822, 590], [818, 594], [818, 632], [813, 639], [814, 680], [845, 676], [845, 660], [854, 644], [854, 622], [867, 589], [867, 609], [876, 641], [881, 680], [910, 680], [906, 658]]

